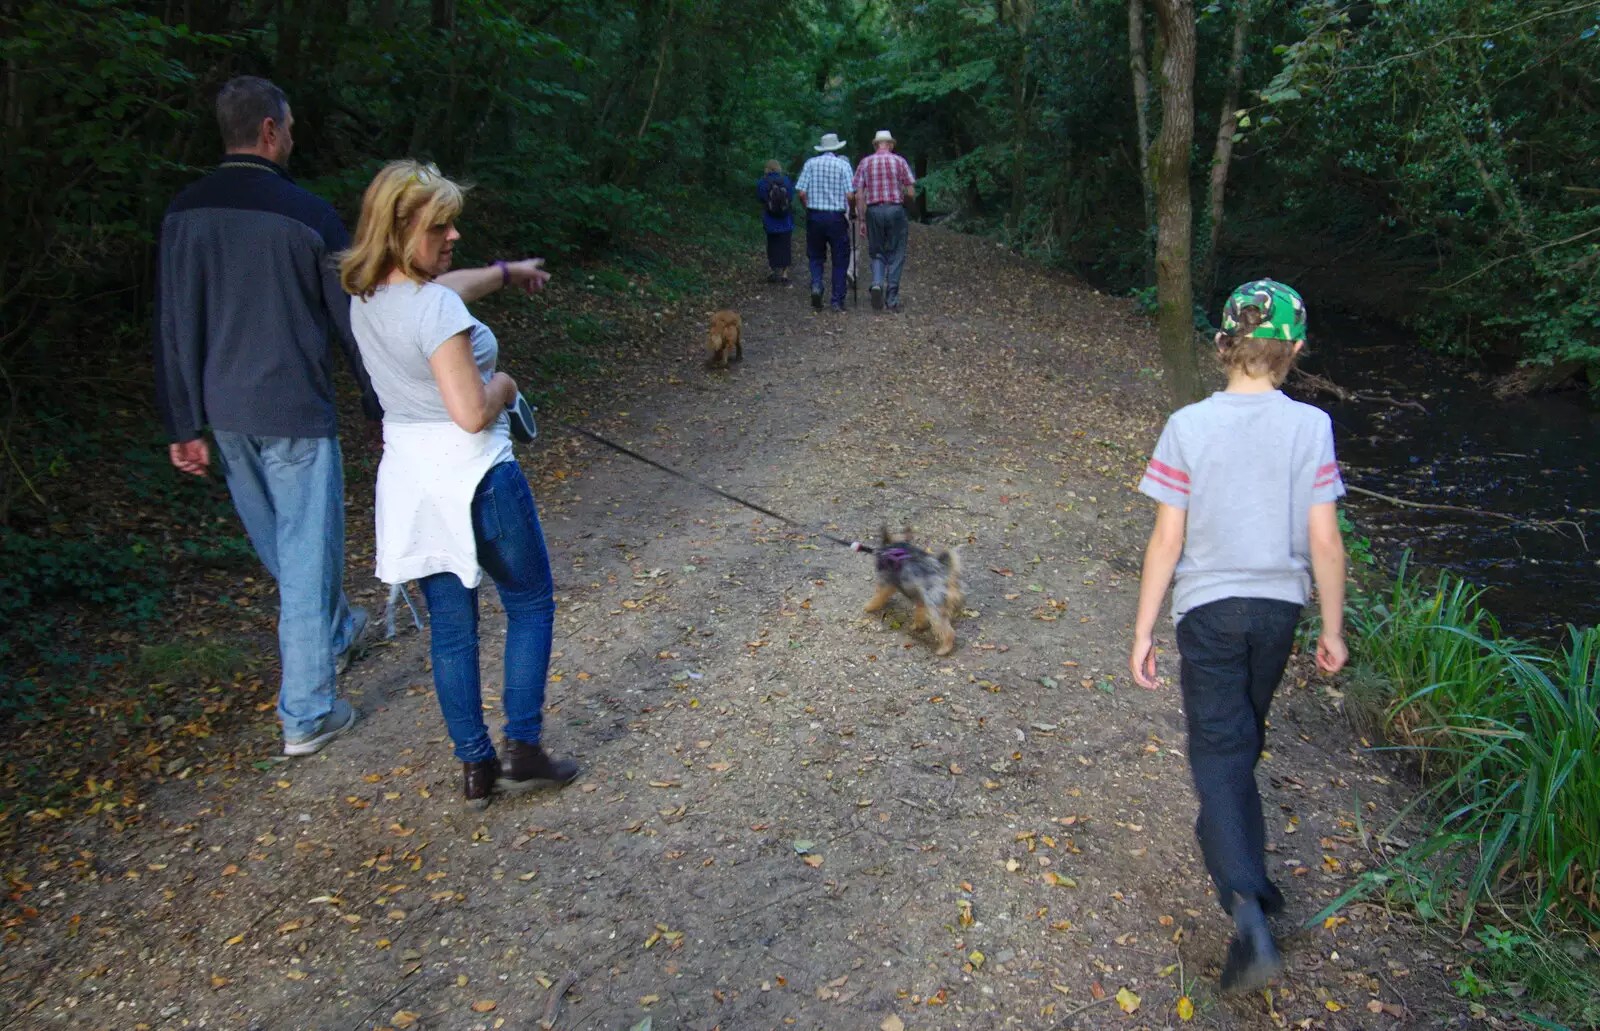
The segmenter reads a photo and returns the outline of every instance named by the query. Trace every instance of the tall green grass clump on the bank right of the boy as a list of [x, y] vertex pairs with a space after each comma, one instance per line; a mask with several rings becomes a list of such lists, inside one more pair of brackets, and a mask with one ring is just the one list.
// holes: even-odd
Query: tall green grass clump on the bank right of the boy
[[[1533, 927], [1600, 930], [1600, 631], [1558, 652], [1509, 639], [1482, 591], [1402, 567], [1352, 613], [1368, 680], [1387, 687], [1384, 733], [1416, 757], [1430, 836], [1403, 868], [1459, 909], [1512, 903]], [[1557, 919], [1552, 919], [1557, 917]]]

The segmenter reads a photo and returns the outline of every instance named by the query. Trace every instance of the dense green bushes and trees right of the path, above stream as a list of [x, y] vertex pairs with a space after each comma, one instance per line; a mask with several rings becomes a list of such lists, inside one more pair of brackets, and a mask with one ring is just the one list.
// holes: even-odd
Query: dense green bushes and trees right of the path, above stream
[[[1147, 274], [1128, 0], [886, 0], [830, 94], [894, 125], [933, 207], [1019, 248]], [[1149, 8], [1136, 0], [1131, 6]], [[1243, 93], [1221, 248], [1366, 296], [1437, 347], [1600, 368], [1600, 21], [1568, 0], [1195, 3], [1197, 197], [1232, 61]], [[1146, 38], [1160, 50], [1154, 19]], [[1152, 80], [1152, 107], [1158, 107]], [[1157, 125], [1160, 112], [1149, 112]], [[1206, 208], [1195, 207], [1205, 227]], [[1205, 234], [1200, 235], [1205, 239]], [[1224, 255], [1226, 256], [1226, 255]], [[1205, 263], [1205, 247], [1195, 261]], [[1208, 283], [1202, 283], [1205, 290]], [[1206, 298], [1198, 298], [1205, 303]], [[1600, 381], [1600, 378], [1597, 378]]]

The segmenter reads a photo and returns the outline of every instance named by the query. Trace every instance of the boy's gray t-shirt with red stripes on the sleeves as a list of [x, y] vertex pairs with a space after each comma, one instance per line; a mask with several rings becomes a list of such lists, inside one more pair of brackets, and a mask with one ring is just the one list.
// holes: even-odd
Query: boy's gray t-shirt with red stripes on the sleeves
[[1227, 394], [1166, 419], [1139, 490], [1186, 509], [1173, 620], [1224, 597], [1310, 600], [1310, 506], [1344, 495], [1328, 413], [1282, 391]]

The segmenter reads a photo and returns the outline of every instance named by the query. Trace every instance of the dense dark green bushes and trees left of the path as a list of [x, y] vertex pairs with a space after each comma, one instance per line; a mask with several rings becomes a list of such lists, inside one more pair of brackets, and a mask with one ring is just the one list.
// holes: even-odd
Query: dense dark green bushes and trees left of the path
[[[466, 259], [576, 256], [800, 150], [805, 0], [0, 0], [0, 693], [147, 623], [174, 564], [248, 554], [150, 408], [152, 243], [219, 152], [210, 102], [277, 80], [291, 173], [346, 216], [413, 155], [477, 186]], [[715, 58], [715, 59], [712, 59]], [[800, 69], [800, 70], [797, 70]], [[693, 205], [691, 205], [693, 207]], [[574, 333], [590, 333], [576, 327]], [[168, 533], [168, 530], [173, 530]], [[184, 541], [173, 544], [170, 541]], [[203, 554], [190, 554], [198, 551]]]

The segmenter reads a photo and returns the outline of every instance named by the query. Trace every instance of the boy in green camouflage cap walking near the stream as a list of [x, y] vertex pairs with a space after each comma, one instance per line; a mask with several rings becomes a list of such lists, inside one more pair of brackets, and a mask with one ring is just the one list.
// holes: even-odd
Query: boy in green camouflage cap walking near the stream
[[1128, 664], [1141, 687], [1157, 687], [1155, 621], [1176, 578], [1195, 836], [1235, 929], [1224, 991], [1262, 988], [1283, 969], [1267, 927], [1283, 895], [1267, 879], [1256, 760], [1312, 578], [1317, 664], [1336, 672], [1346, 661], [1333, 424], [1278, 391], [1304, 341], [1306, 304], [1294, 290], [1269, 279], [1235, 290], [1216, 336], [1227, 389], [1173, 413], [1139, 482], [1158, 506]]

